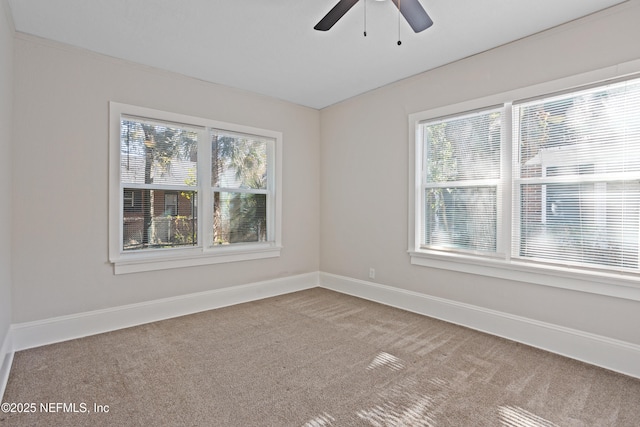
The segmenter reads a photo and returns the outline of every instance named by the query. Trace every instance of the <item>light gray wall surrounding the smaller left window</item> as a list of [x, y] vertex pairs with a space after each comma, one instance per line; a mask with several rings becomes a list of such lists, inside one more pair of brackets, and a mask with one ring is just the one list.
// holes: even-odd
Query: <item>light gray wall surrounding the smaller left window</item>
[[[318, 270], [317, 110], [21, 33], [15, 51], [14, 323]], [[281, 257], [115, 276], [109, 101], [281, 131]]]

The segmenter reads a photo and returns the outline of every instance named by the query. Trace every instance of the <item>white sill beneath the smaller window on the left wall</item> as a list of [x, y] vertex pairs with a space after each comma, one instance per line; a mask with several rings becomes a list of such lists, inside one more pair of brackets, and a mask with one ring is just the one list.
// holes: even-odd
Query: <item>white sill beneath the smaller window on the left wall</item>
[[249, 261], [280, 256], [280, 246], [245, 244], [219, 246], [202, 250], [160, 249], [146, 253], [124, 253], [112, 259], [114, 274], [139, 273], [171, 268], [195, 267], [226, 262]]

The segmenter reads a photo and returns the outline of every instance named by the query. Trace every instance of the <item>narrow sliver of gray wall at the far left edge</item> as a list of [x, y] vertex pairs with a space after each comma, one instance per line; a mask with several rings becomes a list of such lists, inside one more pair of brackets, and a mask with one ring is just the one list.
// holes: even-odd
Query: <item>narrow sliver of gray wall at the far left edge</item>
[[[0, 348], [11, 325], [11, 138], [13, 129], [13, 20], [0, 0]], [[4, 354], [0, 353], [0, 367]]]

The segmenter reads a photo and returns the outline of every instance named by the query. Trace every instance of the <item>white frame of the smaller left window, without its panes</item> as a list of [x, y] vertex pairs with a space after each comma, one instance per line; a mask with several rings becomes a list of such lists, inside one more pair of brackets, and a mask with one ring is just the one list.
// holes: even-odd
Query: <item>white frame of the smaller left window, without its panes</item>
[[[145, 251], [124, 251], [123, 188], [120, 176], [120, 120], [138, 117], [163, 124], [179, 124], [198, 130], [198, 184], [196, 215], [198, 242], [195, 246], [161, 248]], [[211, 141], [209, 129], [220, 129], [237, 134], [255, 135], [273, 141], [270, 149], [269, 194], [267, 221], [271, 230], [266, 242], [209, 244], [213, 233], [213, 207], [211, 200]], [[208, 169], [208, 171], [207, 171]], [[169, 189], [170, 190], [170, 189]], [[169, 268], [191, 267], [236, 261], [279, 257], [282, 249], [282, 133], [234, 123], [156, 110], [118, 102], [109, 102], [109, 262], [114, 274], [126, 274]]]

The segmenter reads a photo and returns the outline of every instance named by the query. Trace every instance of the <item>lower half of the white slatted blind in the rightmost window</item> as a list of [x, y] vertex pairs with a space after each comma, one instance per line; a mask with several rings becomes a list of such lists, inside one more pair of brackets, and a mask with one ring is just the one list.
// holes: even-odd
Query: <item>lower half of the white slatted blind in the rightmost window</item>
[[[523, 185], [518, 255], [638, 268], [640, 184]], [[540, 206], [537, 211], [532, 208]]]

